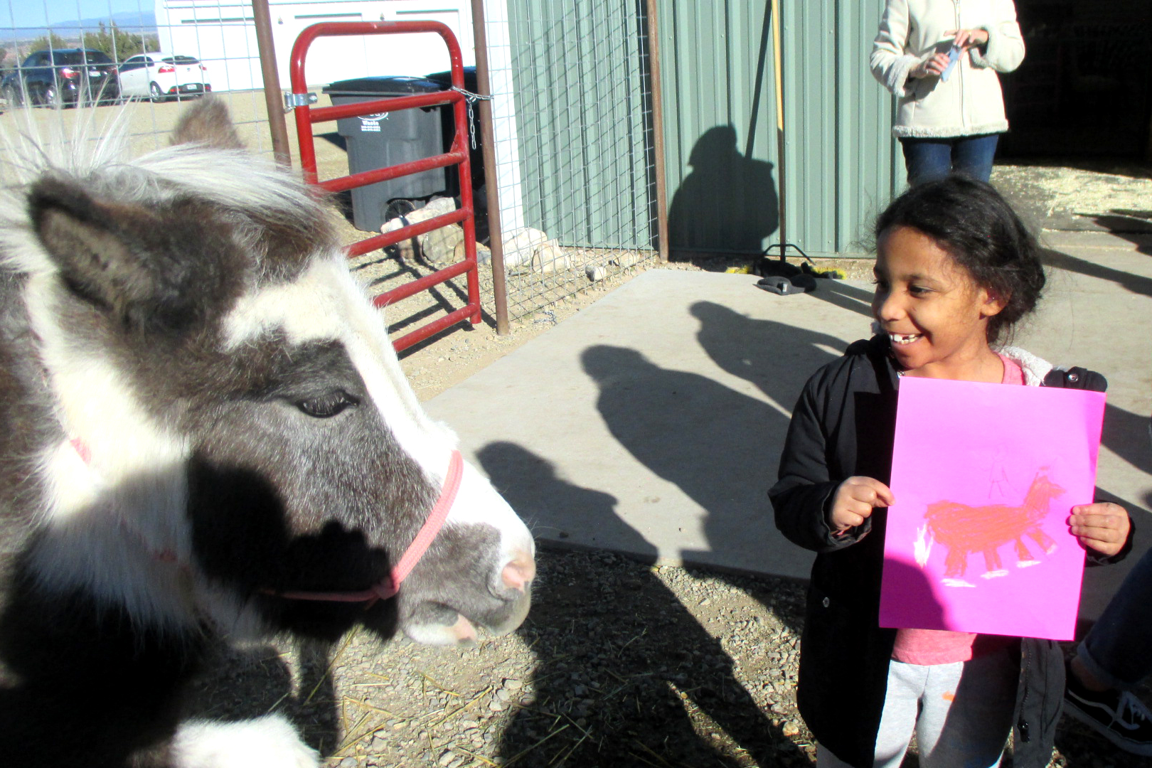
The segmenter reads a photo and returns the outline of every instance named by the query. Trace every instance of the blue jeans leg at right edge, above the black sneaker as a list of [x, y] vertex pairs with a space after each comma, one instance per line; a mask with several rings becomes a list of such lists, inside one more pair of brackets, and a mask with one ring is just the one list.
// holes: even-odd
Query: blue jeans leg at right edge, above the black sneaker
[[1131, 689], [1152, 674], [1152, 549], [1129, 571], [1077, 648], [1104, 685]]

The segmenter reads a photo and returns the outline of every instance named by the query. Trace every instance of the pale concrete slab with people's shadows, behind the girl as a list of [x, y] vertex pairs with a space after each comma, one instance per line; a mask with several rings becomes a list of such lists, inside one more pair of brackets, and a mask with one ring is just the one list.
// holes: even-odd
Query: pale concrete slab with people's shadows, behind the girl
[[[1147, 508], [1152, 258], [1134, 245], [1061, 245], [1043, 310], [1017, 341], [1108, 377], [1099, 484]], [[806, 578], [812, 555], [775, 531], [765, 493], [804, 381], [869, 334], [872, 287], [828, 281], [780, 297], [755, 283], [644, 273], [426, 406], [544, 542]], [[1092, 569], [1085, 617], [1124, 570]]]

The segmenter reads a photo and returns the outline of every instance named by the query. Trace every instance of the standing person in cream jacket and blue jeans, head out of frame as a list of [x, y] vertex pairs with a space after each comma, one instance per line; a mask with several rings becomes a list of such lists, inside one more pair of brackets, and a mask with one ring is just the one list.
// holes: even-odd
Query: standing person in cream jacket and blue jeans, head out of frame
[[[958, 58], [948, 70], [949, 48]], [[1011, 0], [888, 0], [872, 45], [872, 74], [900, 99], [892, 129], [908, 183], [950, 172], [987, 181], [1008, 130], [996, 73], [1024, 59]]]

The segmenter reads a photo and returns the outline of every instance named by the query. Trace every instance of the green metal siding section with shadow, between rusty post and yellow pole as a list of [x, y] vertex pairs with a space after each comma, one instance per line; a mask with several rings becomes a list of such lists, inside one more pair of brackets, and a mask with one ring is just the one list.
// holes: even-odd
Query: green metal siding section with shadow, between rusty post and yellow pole
[[759, 251], [778, 226], [768, 5], [662, 0], [658, 13], [672, 248]]

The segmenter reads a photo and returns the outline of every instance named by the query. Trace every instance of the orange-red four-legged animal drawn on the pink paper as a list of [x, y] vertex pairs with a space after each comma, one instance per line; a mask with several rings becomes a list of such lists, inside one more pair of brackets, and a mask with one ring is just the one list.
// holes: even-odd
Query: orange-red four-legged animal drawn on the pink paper
[[931, 539], [948, 549], [945, 556], [945, 578], [963, 577], [968, 570], [968, 555], [976, 552], [984, 555], [984, 578], [1006, 576], [1008, 571], [1001, 567], [999, 548], [1008, 542], [1014, 542], [1017, 567], [1036, 565], [1039, 561], [1032, 558], [1022, 541], [1025, 535], [1051, 555], [1056, 542], [1044, 532], [1040, 523], [1048, 514], [1052, 500], [1063, 492], [1046, 473], [1038, 472], [1020, 507], [969, 507], [954, 501], [929, 504], [924, 517]]

